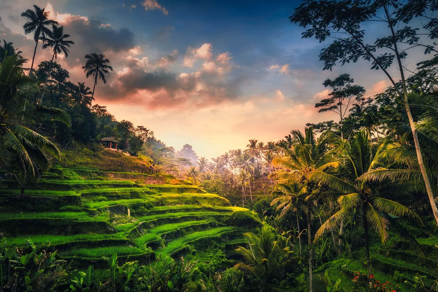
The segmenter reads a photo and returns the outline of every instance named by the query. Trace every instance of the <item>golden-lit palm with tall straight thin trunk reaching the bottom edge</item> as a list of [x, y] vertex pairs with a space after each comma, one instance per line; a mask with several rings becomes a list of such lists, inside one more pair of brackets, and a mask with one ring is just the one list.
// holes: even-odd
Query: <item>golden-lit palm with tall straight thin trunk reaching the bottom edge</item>
[[279, 178], [279, 183], [302, 183], [306, 194], [307, 215], [307, 244], [309, 246], [309, 292], [313, 291], [313, 248], [311, 234], [311, 215], [313, 208], [312, 193], [316, 185], [309, 179], [315, 171], [326, 171], [336, 167], [337, 162], [332, 161], [332, 150], [329, 149], [330, 135], [323, 133], [315, 139], [313, 129], [305, 128], [305, 134], [298, 130], [290, 132], [292, 148], [286, 141], [278, 146], [283, 150], [284, 157], [276, 158], [272, 163], [281, 169], [272, 173], [273, 177]]

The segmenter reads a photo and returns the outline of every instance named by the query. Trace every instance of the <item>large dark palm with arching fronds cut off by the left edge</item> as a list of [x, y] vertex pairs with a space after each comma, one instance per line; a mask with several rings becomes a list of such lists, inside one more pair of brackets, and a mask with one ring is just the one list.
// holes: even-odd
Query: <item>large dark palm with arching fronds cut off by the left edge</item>
[[60, 157], [57, 147], [44, 136], [22, 125], [23, 122], [51, 119], [69, 125], [70, 117], [63, 111], [49, 107], [24, 110], [30, 96], [38, 92], [33, 78], [23, 74], [26, 59], [11, 55], [0, 65], [0, 164], [14, 173], [24, 195], [25, 182], [38, 175], [49, 159], [45, 151]]

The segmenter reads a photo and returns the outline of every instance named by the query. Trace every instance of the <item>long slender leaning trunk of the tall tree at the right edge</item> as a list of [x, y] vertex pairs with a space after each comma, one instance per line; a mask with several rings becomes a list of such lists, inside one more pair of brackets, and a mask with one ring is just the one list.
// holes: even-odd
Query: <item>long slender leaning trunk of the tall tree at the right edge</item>
[[406, 80], [405, 80], [405, 75], [403, 72], [403, 64], [402, 64], [402, 61], [400, 59], [399, 50], [397, 48], [396, 34], [394, 32], [394, 28], [392, 27], [392, 21], [391, 21], [391, 17], [389, 16], [389, 12], [388, 12], [386, 6], [384, 8], [385, 8], [386, 17], [389, 20], [389, 28], [391, 28], [392, 39], [393, 39], [393, 44], [394, 44], [394, 51], [396, 53], [397, 62], [399, 64], [400, 76], [402, 79], [403, 96], [400, 96], [400, 97], [402, 97], [403, 104], [406, 108], [406, 114], [408, 116], [409, 125], [410, 125], [411, 131], [412, 131], [412, 136], [413, 136], [413, 142], [415, 145], [415, 151], [417, 152], [418, 165], [420, 166], [420, 171], [421, 171], [421, 174], [423, 175], [424, 184], [426, 185], [427, 196], [429, 197], [429, 201], [431, 203], [432, 213], [434, 214], [436, 224], [438, 225], [438, 208], [437, 208], [437, 205], [435, 203], [434, 193], [432, 191], [431, 182], [429, 180], [429, 176], [427, 174], [426, 167], [424, 166], [423, 154], [421, 153], [420, 142], [418, 141], [417, 129], [415, 128], [415, 122], [413, 120], [412, 113], [410, 111], [409, 104], [408, 104], [408, 93], [407, 93], [407, 89], [406, 89]]

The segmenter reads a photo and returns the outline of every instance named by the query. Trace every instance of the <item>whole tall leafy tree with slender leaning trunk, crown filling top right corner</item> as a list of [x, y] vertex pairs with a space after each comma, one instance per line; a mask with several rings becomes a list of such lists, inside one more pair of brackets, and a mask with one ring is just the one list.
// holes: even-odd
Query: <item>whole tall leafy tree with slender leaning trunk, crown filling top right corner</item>
[[[319, 42], [327, 38], [333, 42], [323, 50], [319, 59], [324, 62], [324, 70], [332, 69], [336, 63], [341, 65], [357, 62], [359, 59], [371, 61], [371, 70], [381, 70], [389, 78], [403, 103], [409, 121], [413, 142], [417, 154], [418, 164], [424, 178], [427, 196], [432, 207], [436, 224], [438, 224], [438, 208], [434, 201], [434, 193], [424, 165], [423, 154], [420, 150], [417, 129], [408, 103], [408, 86], [406, 83], [406, 66], [403, 60], [407, 57], [407, 50], [424, 48], [425, 54], [438, 53], [435, 43], [424, 44], [421, 30], [430, 39], [438, 37], [438, 21], [433, 12], [438, 10], [434, 1], [408, 0], [400, 3], [392, 0], [305, 0], [290, 16], [290, 21], [307, 28], [302, 33], [303, 38], [314, 37]], [[432, 16], [428, 14], [432, 12]], [[418, 21], [418, 18], [425, 21]], [[388, 32], [387, 36], [377, 38], [374, 43], [365, 39], [364, 23], [374, 21], [382, 24], [380, 32]], [[403, 24], [406, 24], [404, 26]], [[413, 28], [409, 24], [417, 25]], [[419, 29], [421, 28], [421, 29]], [[421, 39], [421, 42], [420, 42]], [[436, 55], [435, 55], [436, 56]], [[390, 66], [396, 62], [397, 74], [391, 74]], [[397, 80], [400, 80], [397, 83]]]

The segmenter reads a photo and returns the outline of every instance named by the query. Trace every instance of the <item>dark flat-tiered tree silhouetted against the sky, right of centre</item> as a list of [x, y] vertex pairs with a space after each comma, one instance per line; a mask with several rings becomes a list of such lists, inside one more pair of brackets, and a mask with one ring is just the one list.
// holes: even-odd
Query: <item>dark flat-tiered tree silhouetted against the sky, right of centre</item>
[[321, 109], [318, 110], [318, 113], [332, 111], [339, 114], [341, 139], [344, 139], [342, 129], [343, 120], [345, 114], [353, 104], [353, 97], [359, 101], [365, 94], [364, 87], [360, 85], [352, 85], [353, 82], [353, 78], [346, 73], [339, 75], [333, 80], [329, 78], [325, 79], [322, 85], [324, 85], [324, 87], [330, 86], [333, 91], [329, 93], [329, 98], [325, 98], [315, 104], [316, 108], [321, 107]]

